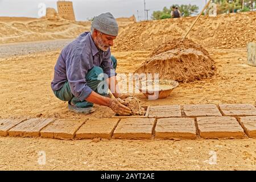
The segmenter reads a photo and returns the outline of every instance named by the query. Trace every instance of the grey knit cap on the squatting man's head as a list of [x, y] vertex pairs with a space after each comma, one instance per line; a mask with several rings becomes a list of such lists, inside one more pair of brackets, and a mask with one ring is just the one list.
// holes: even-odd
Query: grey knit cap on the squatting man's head
[[96, 29], [103, 34], [117, 36], [118, 24], [111, 13], [104, 13], [94, 18], [92, 22], [92, 30]]

